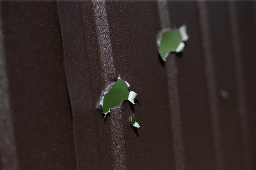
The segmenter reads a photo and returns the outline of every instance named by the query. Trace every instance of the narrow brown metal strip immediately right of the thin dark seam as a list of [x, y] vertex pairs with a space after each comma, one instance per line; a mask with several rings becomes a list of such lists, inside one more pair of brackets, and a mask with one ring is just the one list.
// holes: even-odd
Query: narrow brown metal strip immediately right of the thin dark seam
[[79, 169], [101, 167], [99, 131], [79, 2], [59, 2], [61, 29], [66, 61], [67, 82], [75, 121], [75, 137]]

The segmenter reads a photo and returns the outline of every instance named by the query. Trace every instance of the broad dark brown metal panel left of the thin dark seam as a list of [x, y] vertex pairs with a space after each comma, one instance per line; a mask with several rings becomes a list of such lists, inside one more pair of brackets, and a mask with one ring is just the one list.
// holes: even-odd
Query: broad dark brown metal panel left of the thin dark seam
[[56, 2], [1, 2], [18, 168], [75, 169]]

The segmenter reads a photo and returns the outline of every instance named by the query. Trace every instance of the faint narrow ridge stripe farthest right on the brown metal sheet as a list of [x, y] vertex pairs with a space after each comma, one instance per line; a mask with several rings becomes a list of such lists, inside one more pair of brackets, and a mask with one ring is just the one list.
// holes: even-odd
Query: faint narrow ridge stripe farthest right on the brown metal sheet
[[237, 23], [237, 11], [236, 4], [234, 1], [230, 1], [228, 4], [230, 30], [231, 30], [231, 44], [233, 47], [233, 56], [236, 75], [236, 93], [237, 93], [237, 104], [242, 106], [239, 109], [240, 127], [241, 127], [241, 140], [243, 144], [243, 162], [245, 163], [245, 170], [251, 170], [251, 159], [250, 159], [250, 144], [249, 144], [249, 127], [248, 127], [248, 113], [247, 113], [247, 102], [245, 97], [245, 80], [243, 73], [243, 60], [241, 58], [242, 53], [240, 49], [239, 40], [239, 28]]

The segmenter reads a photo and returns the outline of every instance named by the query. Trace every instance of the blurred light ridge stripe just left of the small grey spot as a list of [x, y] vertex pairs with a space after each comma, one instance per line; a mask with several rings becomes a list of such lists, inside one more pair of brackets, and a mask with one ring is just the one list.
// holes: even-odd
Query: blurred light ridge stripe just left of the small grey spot
[[224, 170], [223, 156], [220, 147], [220, 124], [218, 92], [216, 87], [216, 76], [214, 73], [213, 56], [210, 41], [210, 28], [207, 5], [205, 1], [198, 1], [198, 16], [200, 21], [202, 37], [202, 53], [204, 56], [204, 68], [207, 80], [207, 90], [209, 95], [209, 108], [211, 114], [211, 128], [213, 132], [213, 143], [216, 155], [216, 167]]

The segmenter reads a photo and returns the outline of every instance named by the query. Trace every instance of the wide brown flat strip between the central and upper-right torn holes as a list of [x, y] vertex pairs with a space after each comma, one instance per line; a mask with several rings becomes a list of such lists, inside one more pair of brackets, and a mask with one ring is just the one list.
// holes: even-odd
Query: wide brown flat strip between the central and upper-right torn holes
[[156, 53], [157, 30], [152, 19], [158, 16], [153, 13], [156, 8], [153, 5], [152, 2], [106, 3], [116, 72], [130, 83], [132, 91], [143, 97], [138, 98], [140, 106], [134, 106], [136, 121], [141, 126], [139, 137], [130, 128], [131, 110], [121, 108], [128, 169], [173, 168], [168, 87], [165, 69]]

